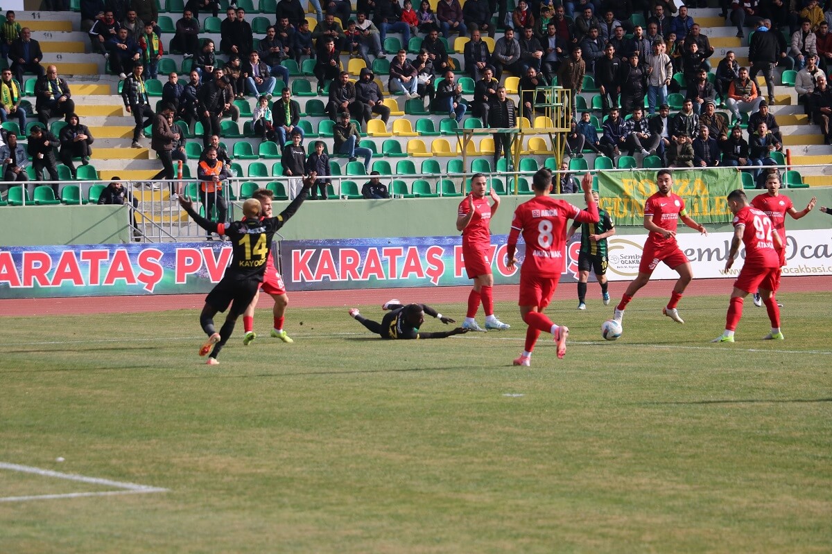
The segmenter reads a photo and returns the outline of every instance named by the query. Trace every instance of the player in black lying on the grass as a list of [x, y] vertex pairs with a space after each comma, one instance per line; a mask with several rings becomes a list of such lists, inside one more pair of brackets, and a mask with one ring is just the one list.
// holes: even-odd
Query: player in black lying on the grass
[[463, 327], [457, 327], [451, 331], [423, 332], [419, 327], [424, 323], [424, 315], [433, 316], [445, 325], [456, 323], [450, 317], [445, 317], [427, 304], [403, 305], [398, 300], [389, 300], [381, 306], [382, 310], [389, 310], [384, 314], [381, 323], [372, 321], [362, 316], [357, 308], [350, 308], [349, 316], [354, 317], [359, 323], [378, 333], [383, 339], [443, 339], [453, 335], [463, 335], [470, 331]]

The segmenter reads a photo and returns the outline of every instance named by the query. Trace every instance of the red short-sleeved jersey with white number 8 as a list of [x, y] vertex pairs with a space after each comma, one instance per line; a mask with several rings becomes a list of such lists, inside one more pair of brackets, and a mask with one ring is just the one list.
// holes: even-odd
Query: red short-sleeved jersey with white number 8
[[567, 223], [580, 208], [549, 196], [535, 197], [514, 210], [512, 228], [522, 233], [526, 259], [522, 272], [539, 277], [559, 277], [563, 272]]

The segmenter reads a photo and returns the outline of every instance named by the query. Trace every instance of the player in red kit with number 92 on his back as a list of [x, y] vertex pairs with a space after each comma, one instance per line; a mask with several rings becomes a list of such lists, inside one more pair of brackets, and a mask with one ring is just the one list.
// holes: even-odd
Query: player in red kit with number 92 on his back
[[734, 238], [730, 243], [726, 272], [734, 264], [734, 258], [743, 243], [745, 263], [734, 282], [734, 292], [730, 295], [726, 330], [711, 342], [734, 342], [736, 324], [742, 317], [743, 300], [758, 287], [771, 320], [771, 332], [764, 338], [782, 341], [784, 336], [780, 331], [780, 307], [774, 298], [780, 281], [780, 251], [783, 249], [780, 233], [775, 233], [775, 223], [765, 212], [750, 206], [741, 189], [728, 194], [728, 208], [734, 214]]

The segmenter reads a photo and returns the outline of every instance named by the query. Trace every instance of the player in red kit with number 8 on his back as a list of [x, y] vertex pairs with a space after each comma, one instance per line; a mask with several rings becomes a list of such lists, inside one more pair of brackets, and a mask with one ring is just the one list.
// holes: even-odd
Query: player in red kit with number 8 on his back
[[578, 223], [597, 223], [598, 207], [592, 199], [592, 175], [585, 174], [581, 182], [587, 210], [553, 199], [552, 172], [540, 169], [532, 177], [534, 198], [514, 210], [512, 230], [508, 234], [508, 268], [517, 264], [514, 253], [518, 237], [522, 233], [526, 243], [526, 257], [520, 267], [520, 315], [525, 321], [526, 346], [514, 365], [532, 365], [532, 350], [542, 331], [552, 333], [557, 344], [557, 357], [567, 353], [567, 326], [557, 326], [543, 310], [552, 300], [557, 282], [563, 273], [563, 259], [567, 243], [567, 223], [574, 219]]

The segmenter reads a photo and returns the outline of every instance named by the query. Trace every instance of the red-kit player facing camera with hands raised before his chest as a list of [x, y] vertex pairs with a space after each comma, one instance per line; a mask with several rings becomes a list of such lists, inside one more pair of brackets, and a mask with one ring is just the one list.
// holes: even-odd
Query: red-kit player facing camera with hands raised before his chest
[[[463, 233], [463, 260], [465, 272], [468, 278], [473, 279], [473, 288], [468, 294], [468, 313], [463, 322], [464, 329], [471, 331], [488, 331], [496, 329], [504, 331], [510, 326], [503, 323], [494, 316], [493, 286], [494, 276], [491, 273], [491, 261], [488, 259], [491, 254], [491, 232], [488, 225], [491, 223], [491, 216], [497, 213], [500, 207], [500, 197], [494, 189], [491, 189], [493, 204], [488, 205], [486, 198], [488, 186], [485, 184], [485, 175], [478, 173], [471, 178], [471, 194], [468, 194], [459, 203], [457, 213], [457, 230]], [[477, 316], [479, 302], [483, 302], [485, 311], [485, 329], [477, 324], [474, 319]]]

